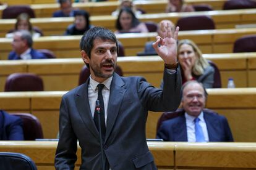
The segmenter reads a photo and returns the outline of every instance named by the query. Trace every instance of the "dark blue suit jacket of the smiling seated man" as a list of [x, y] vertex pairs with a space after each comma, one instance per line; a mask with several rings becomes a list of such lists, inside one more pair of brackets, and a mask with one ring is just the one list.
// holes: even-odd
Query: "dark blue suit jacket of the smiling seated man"
[[[156, 138], [165, 141], [187, 142], [185, 111], [183, 109], [179, 111], [182, 112], [181, 116], [163, 121]], [[234, 141], [228, 120], [224, 116], [218, 115], [211, 110], [203, 109], [203, 118], [207, 124], [209, 142]]]

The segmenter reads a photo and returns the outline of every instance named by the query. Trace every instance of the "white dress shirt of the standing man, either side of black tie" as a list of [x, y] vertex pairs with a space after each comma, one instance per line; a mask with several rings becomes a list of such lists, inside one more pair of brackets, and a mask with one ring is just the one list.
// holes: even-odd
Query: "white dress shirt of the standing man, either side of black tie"
[[[102, 96], [104, 100], [104, 110], [105, 110], [105, 124], [106, 120], [108, 118], [108, 101], [109, 101], [109, 94], [110, 94], [110, 85], [112, 82], [113, 76], [106, 79], [106, 81], [103, 81], [105, 87], [102, 89]], [[95, 106], [96, 106], [96, 100], [98, 99], [98, 83], [92, 77], [90, 76], [90, 84], [88, 84], [88, 100], [90, 104], [90, 109], [92, 113], [92, 117], [94, 116]], [[107, 124], [106, 124], [107, 125]]]

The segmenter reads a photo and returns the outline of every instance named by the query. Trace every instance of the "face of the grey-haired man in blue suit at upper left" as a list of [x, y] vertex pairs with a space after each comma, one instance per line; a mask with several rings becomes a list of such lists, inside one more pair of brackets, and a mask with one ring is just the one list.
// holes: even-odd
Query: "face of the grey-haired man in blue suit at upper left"
[[14, 39], [12, 40], [12, 49], [17, 54], [22, 54], [27, 50], [27, 41], [21, 38], [21, 33], [14, 33]]

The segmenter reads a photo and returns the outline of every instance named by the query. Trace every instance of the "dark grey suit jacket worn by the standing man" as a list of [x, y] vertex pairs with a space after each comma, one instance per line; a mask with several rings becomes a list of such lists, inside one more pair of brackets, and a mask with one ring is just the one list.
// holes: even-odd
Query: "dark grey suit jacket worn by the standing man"
[[[120, 77], [111, 83], [104, 155], [110, 168], [156, 169], [146, 141], [148, 110], [176, 110], [181, 100], [181, 75], [164, 70], [164, 88], [141, 77]], [[100, 136], [88, 102], [88, 80], [62, 97], [56, 169], [74, 169], [77, 139], [82, 148], [81, 169], [100, 169]]]

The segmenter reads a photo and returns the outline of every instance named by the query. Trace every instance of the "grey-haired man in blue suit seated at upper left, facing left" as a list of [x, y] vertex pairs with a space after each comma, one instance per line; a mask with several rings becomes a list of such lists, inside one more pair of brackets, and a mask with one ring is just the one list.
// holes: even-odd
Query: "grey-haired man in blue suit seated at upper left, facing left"
[[14, 33], [12, 40], [12, 49], [8, 60], [29, 60], [29, 59], [47, 59], [41, 52], [32, 48], [32, 35], [27, 30], [18, 30]]

